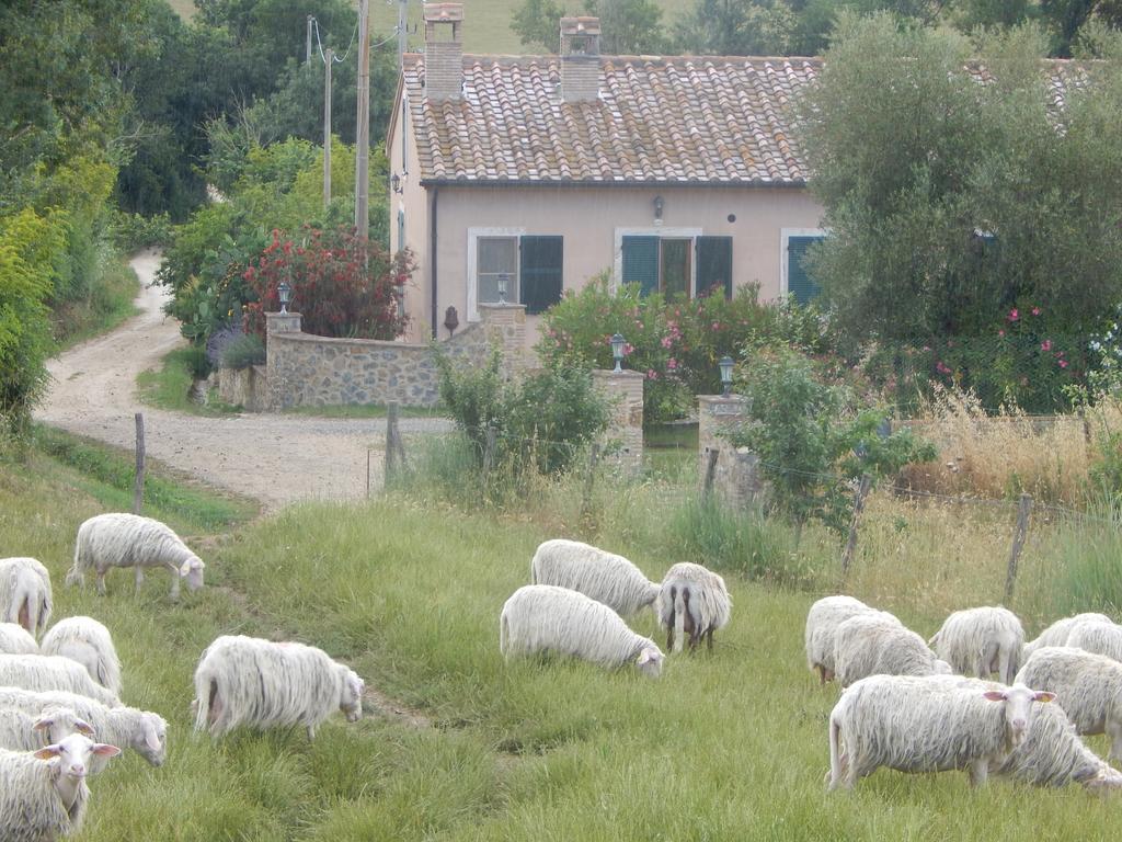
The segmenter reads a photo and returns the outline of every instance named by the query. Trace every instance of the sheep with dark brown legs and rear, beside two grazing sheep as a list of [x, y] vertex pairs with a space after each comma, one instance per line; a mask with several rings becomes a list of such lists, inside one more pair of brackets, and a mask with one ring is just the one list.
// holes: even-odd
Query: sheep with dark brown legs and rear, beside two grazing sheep
[[725, 579], [701, 565], [680, 561], [662, 577], [655, 613], [666, 630], [669, 651], [680, 652], [687, 635], [691, 650], [705, 638], [712, 651], [712, 633], [728, 624], [732, 612]]

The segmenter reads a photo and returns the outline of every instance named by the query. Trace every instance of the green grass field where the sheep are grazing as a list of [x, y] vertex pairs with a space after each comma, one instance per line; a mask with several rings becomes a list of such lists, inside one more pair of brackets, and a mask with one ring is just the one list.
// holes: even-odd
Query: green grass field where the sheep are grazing
[[[96, 470], [31, 458], [0, 464], [0, 547], [49, 567], [56, 616], [90, 613], [109, 625], [125, 701], [171, 723], [164, 767], [126, 754], [92, 781], [84, 840], [1114, 836], [1116, 805], [1079, 789], [996, 780], [972, 791], [964, 774], [882, 770], [854, 795], [824, 791], [837, 692], [807, 670], [802, 624], [836, 573], [833, 549], [816, 556], [825, 567], [811, 591], [728, 575], [734, 616], [716, 651], [670, 658], [661, 680], [572, 661], [504, 665], [499, 608], [526, 582], [539, 541], [595, 538], [652, 576], [680, 560], [665, 509], [675, 502], [655, 482], [599, 488], [604, 511], [585, 527], [568, 492], [505, 513], [397, 494], [252, 522], [242, 514], [230, 527], [213, 525], [197, 502], [180, 503], [153, 513], [172, 519], [180, 509], [174, 522], [205, 559], [208, 586], [173, 605], [164, 576], [149, 576], [139, 597], [128, 573], [110, 575], [104, 598], [63, 586], [77, 524], [120, 503]], [[949, 603], [991, 601], [996, 575], [980, 575], [980, 564], [1002, 569], [990, 553], [1008, 534], [981, 539], [1000, 531], [1000, 516], [955, 518], [960, 542], [948, 542], [928, 513], [891, 500], [872, 505], [870, 519], [857, 595], [922, 634]], [[941, 533], [941, 544], [928, 533]], [[820, 540], [803, 537], [808, 550]], [[1063, 546], [1043, 532], [1031, 543], [1018, 610], [1055, 586], [1046, 561]], [[633, 625], [655, 634], [649, 615]], [[419, 716], [369, 715], [356, 725], [337, 716], [314, 743], [300, 729], [238, 732], [218, 744], [193, 738], [191, 675], [220, 633], [321, 646]], [[1105, 751], [1102, 738], [1092, 744]]]

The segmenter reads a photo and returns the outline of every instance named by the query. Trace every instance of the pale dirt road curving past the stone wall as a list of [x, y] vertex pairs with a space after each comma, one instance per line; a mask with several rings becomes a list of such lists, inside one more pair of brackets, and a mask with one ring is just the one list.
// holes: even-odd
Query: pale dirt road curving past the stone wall
[[[117, 330], [52, 360], [50, 391], [36, 418], [118, 447], [134, 447], [134, 414], [145, 414], [145, 441], [154, 459], [203, 482], [256, 497], [274, 510], [297, 500], [366, 495], [367, 448], [374, 447], [371, 485], [381, 485], [381, 419], [335, 420], [268, 413], [202, 418], [139, 403], [136, 378], [185, 345], [178, 322], [165, 317], [164, 287], [151, 286], [159, 255], [132, 259], [140, 277], [141, 313]], [[439, 419], [406, 419], [402, 431], [447, 429]]]

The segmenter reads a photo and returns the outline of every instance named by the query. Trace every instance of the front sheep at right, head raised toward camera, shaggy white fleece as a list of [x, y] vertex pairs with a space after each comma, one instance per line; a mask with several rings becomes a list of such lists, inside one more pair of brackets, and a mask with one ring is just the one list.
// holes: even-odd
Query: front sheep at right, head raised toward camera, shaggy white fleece
[[881, 766], [905, 772], [967, 769], [971, 785], [980, 786], [991, 765], [1031, 731], [1032, 703], [1052, 698], [1020, 684], [981, 689], [951, 686], [942, 676], [864, 678], [830, 712], [829, 788], [852, 789]]

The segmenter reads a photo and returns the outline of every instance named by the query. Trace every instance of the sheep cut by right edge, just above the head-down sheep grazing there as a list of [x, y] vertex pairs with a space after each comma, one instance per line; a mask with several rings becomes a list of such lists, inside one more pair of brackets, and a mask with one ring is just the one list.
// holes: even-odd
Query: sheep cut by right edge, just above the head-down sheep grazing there
[[1122, 663], [1074, 647], [1043, 647], [1017, 680], [1051, 690], [1080, 734], [1107, 734], [1110, 757], [1122, 760]]

